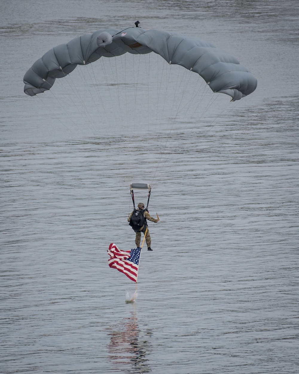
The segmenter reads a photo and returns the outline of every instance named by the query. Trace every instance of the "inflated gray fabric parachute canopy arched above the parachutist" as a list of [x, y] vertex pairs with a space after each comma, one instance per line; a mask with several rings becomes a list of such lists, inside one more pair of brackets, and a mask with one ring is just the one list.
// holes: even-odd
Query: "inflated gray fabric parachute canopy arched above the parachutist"
[[24, 92], [34, 96], [49, 90], [56, 78], [65, 77], [77, 65], [126, 52], [158, 53], [169, 64], [198, 73], [213, 92], [226, 93], [232, 101], [249, 95], [257, 86], [256, 78], [234, 56], [209, 42], [169, 31], [129, 27], [98, 30], [50, 49], [25, 74]]

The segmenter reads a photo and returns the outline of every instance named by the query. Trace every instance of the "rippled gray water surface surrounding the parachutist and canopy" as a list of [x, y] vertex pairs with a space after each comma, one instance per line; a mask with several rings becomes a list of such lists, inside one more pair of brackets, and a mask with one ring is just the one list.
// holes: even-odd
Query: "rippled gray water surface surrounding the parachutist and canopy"
[[[136, 20], [258, 88], [230, 103], [151, 53], [23, 92], [53, 46]], [[0, 373], [298, 373], [298, 25], [296, 0], [0, 1]], [[131, 181], [160, 222], [126, 304]]]

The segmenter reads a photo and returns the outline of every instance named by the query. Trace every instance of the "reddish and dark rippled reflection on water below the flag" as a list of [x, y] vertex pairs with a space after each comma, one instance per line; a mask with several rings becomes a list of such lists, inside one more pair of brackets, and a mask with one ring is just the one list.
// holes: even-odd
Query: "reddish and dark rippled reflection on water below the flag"
[[117, 329], [110, 332], [110, 343], [108, 344], [108, 361], [119, 366], [119, 370], [126, 367], [128, 373], [150, 373], [147, 355], [151, 352], [148, 339], [151, 338], [151, 331], [141, 332], [138, 327], [138, 319], [135, 312], [132, 316], [124, 318], [117, 325]]

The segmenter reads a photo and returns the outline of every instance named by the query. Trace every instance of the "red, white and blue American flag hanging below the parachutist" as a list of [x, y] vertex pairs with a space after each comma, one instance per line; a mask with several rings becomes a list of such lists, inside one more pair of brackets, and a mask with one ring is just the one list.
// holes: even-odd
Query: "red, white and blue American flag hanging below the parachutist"
[[137, 282], [141, 248], [121, 251], [115, 244], [111, 243], [107, 252], [110, 255], [108, 265], [124, 273], [131, 281]]

